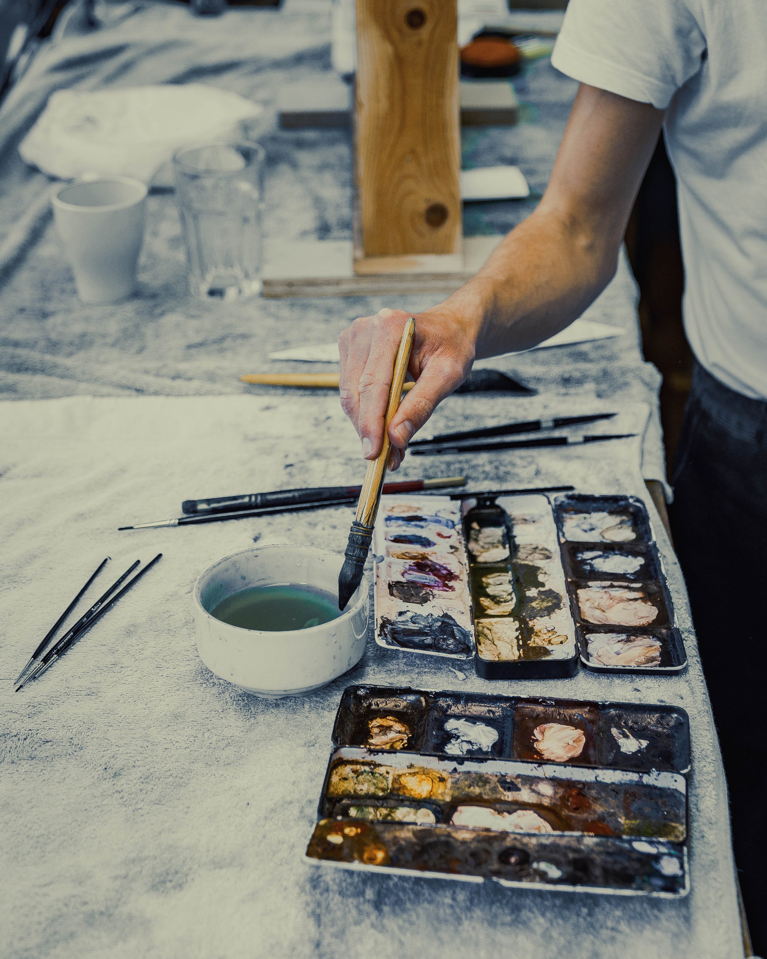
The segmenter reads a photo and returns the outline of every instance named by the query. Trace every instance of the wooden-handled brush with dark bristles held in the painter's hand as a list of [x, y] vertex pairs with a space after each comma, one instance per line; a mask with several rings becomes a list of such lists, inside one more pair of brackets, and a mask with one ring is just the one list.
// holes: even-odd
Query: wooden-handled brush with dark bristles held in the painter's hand
[[411, 316], [405, 324], [400, 348], [394, 361], [394, 372], [384, 417], [384, 442], [381, 453], [367, 464], [365, 481], [362, 483], [360, 492], [360, 503], [357, 506], [357, 516], [352, 523], [349, 542], [346, 545], [346, 559], [343, 561], [341, 572], [338, 573], [338, 609], [340, 610], [346, 609], [346, 604], [360, 585], [365, 560], [368, 550], [370, 550], [373, 526], [376, 523], [376, 513], [378, 513], [378, 504], [381, 502], [386, 465], [391, 451], [388, 427], [402, 401], [402, 389], [405, 384], [407, 363], [410, 361], [410, 350], [412, 349], [414, 336], [415, 320]]

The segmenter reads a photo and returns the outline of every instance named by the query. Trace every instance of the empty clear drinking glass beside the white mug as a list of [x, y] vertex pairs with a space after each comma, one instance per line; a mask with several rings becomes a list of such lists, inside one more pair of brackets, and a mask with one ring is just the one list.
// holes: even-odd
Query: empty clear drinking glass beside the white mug
[[265, 153], [256, 143], [209, 143], [174, 155], [175, 195], [189, 284], [205, 299], [261, 292]]

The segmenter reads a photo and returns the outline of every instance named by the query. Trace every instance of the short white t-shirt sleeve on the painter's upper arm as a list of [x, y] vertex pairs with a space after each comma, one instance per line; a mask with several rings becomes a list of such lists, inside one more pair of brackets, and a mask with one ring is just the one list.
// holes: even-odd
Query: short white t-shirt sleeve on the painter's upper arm
[[665, 109], [705, 49], [684, 0], [569, 0], [551, 63], [573, 80]]

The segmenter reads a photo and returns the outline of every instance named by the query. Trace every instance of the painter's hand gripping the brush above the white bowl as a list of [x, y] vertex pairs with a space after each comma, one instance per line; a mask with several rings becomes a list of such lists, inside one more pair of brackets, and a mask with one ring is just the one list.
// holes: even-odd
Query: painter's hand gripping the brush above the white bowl
[[418, 314], [380, 310], [347, 327], [338, 338], [340, 400], [360, 434], [365, 459], [375, 459], [381, 452], [394, 359], [410, 316], [415, 318], [415, 338], [407, 372], [415, 386], [389, 424], [391, 470], [398, 469], [410, 438], [436, 406], [463, 383], [475, 358], [469, 325], [444, 304]]

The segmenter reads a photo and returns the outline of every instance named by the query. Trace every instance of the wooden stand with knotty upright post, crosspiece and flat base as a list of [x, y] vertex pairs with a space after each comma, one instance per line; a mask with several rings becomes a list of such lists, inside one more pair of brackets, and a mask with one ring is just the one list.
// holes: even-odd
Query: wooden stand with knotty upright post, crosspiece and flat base
[[[447, 295], [500, 243], [462, 234], [461, 101], [475, 123], [504, 110], [513, 121], [516, 101], [508, 83], [492, 103], [489, 87], [459, 84], [457, 0], [357, 0], [357, 49], [354, 243], [267, 244], [267, 297]], [[346, 115], [342, 91], [331, 93], [317, 126]], [[283, 109], [285, 126], [312, 121], [311, 109], [290, 116]]]

